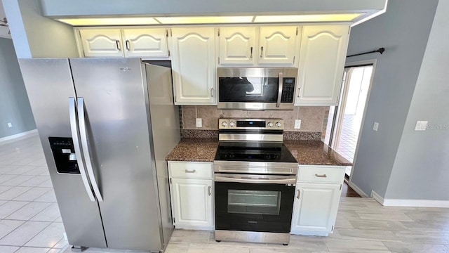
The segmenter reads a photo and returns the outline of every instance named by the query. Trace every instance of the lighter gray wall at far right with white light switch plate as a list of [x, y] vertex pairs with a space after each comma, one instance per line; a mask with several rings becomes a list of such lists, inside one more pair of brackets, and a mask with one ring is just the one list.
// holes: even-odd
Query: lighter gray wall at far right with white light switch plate
[[[385, 198], [449, 200], [449, 1], [439, 1]], [[428, 120], [427, 131], [414, 131]]]

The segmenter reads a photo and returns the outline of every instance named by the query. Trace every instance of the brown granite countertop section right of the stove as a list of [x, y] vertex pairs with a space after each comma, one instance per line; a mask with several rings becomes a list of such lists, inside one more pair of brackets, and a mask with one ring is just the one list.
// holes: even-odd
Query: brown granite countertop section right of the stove
[[284, 141], [283, 142], [298, 164], [352, 166], [322, 141]]

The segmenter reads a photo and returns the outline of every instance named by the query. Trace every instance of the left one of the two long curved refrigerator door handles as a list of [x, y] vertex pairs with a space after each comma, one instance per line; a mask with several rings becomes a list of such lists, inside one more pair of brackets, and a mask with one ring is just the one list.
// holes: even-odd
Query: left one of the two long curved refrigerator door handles
[[86, 169], [83, 163], [81, 155], [81, 147], [79, 145], [78, 123], [76, 121], [76, 102], [75, 98], [69, 98], [69, 116], [70, 116], [70, 130], [72, 131], [73, 145], [75, 149], [75, 155], [77, 157], [79, 173], [83, 180], [84, 188], [86, 188], [87, 195], [92, 202], [95, 202], [95, 196], [93, 195], [91, 184], [88, 181]]

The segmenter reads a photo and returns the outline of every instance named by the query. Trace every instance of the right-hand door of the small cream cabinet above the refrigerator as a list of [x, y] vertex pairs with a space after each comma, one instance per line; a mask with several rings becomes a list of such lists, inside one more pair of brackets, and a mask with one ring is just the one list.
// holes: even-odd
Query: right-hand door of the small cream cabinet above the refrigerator
[[126, 57], [168, 57], [166, 29], [125, 29]]

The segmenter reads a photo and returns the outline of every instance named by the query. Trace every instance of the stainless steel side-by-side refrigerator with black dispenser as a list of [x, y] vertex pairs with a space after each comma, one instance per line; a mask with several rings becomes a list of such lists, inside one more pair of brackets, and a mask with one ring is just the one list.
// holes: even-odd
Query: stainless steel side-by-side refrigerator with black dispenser
[[171, 70], [138, 58], [20, 59], [70, 245], [159, 252], [173, 232]]

